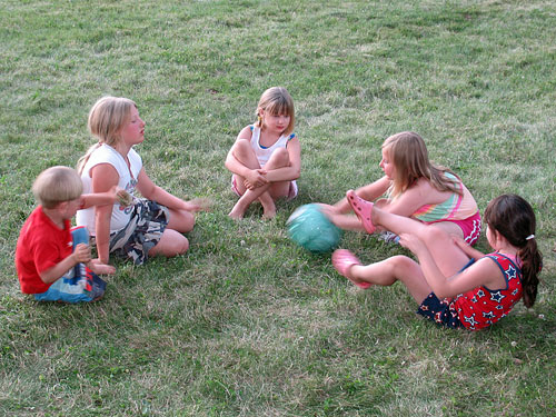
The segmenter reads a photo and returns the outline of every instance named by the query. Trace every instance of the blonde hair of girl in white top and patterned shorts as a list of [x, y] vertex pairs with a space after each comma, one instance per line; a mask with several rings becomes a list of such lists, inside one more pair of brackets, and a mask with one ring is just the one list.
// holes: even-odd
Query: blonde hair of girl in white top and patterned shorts
[[87, 126], [89, 132], [98, 139], [98, 142], [91, 146], [87, 153], [79, 158], [77, 162], [77, 171], [79, 175], [83, 171], [85, 165], [89, 160], [91, 153], [102, 143], [111, 147], [120, 141], [120, 131], [123, 125], [129, 121], [131, 108], [137, 108], [137, 105], [125, 97], [102, 97], [99, 99], [89, 111], [89, 120]]

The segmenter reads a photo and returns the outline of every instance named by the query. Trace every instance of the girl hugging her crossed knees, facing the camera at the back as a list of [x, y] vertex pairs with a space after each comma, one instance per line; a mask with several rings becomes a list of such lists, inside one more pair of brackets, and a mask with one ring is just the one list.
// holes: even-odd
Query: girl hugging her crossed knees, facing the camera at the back
[[257, 122], [238, 135], [226, 158], [231, 189], [238, 195], [229, 217], [241, 219], [254, 201], [262, 205], [262, 217], [276, 216], [275, 200], [297, 196], [301, 148], [294, 131], [294, 100], [282, 87], [272, 87], [260, 97]]

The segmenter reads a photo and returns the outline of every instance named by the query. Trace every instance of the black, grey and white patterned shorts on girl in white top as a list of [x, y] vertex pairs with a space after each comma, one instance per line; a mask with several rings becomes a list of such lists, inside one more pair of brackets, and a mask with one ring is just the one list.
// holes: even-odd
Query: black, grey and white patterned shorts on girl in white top
[[147, 199], [136, 199], [128, 225], [110, 235], [110, 252], [142, 265], [149, 250], [160, 241], [170, 215], [168, 208]]

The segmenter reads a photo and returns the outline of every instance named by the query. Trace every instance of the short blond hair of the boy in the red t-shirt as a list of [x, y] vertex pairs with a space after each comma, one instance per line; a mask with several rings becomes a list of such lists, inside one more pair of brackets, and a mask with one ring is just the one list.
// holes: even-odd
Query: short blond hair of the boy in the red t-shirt
[[60, 202], [79, 198], [83, 192], [83, 185], [75, 169], [51, 167], [37, 177], [32, 191], [42, 207], [52, 209]]

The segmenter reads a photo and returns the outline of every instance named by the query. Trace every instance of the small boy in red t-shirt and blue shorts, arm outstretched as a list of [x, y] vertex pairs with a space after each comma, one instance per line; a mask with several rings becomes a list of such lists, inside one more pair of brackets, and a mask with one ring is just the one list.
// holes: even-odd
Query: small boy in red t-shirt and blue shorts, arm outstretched
[[80, 208], [113, 205], [119, 192], [115, 187], [103, 193], [81, 195], [82, 189], [78, 173], [67, 167], [49, 168], [33, 183], [39, 206], [21, 228], [16, 268], [21, 291], [34, 295], [36, 300], [95, 301], [106, 288], [96, 274], [116, 271], [112, 266], [92, 261], [88, 245], [73, 248], [70, 219]]

